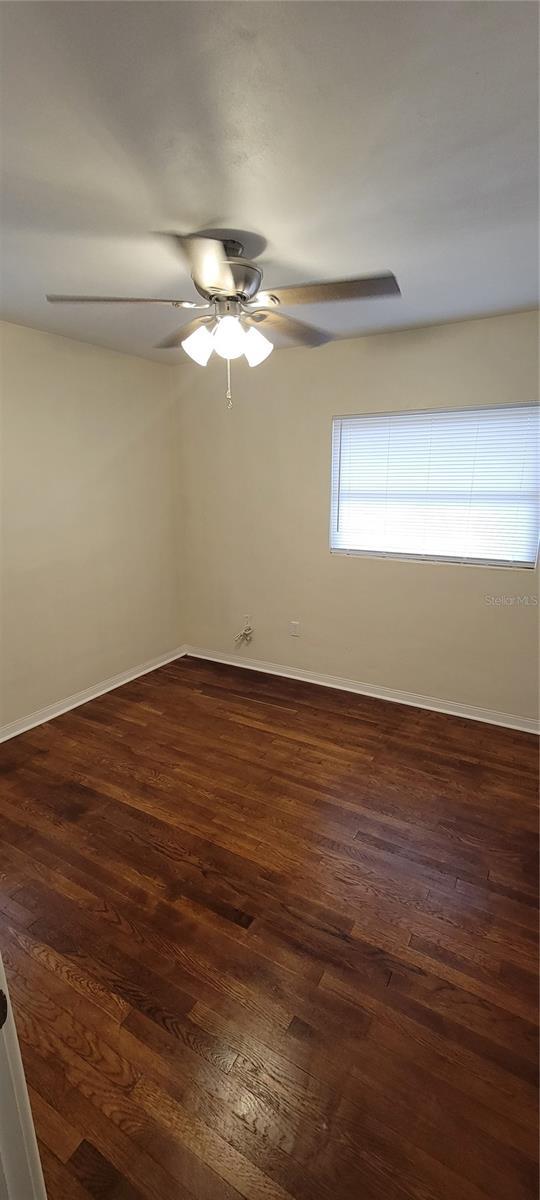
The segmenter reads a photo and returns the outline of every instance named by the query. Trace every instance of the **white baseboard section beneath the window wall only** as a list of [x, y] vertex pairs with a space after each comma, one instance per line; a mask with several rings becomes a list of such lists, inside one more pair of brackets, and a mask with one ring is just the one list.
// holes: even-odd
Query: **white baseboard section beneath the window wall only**
[[317, 683], [322, 688], [337, 688], [340, 691], [353, 691], [360, 696], [374, 696], [394, 704], [409, 704], [412, 708], [430, 708], [434, 713], [448, 713], [450, 716], [464, 716], [468, 721], [484, 721], [486, 725], [502, 725], [509, 730], [522, 730], [526, 733], [539, 733], [540, 726], [534, 718], [516, 716], [514, 713], [499, 713], [496, 709], [476, 708], [473, 704], [460, 704], [452, 700], [438, 700], [434, 696], [419, 696], [413, 691], [396, 691], [379, 684], [360, 683], [356, 679], [343, 679], [341, 676], [319, 674], [317, 671], [305, 671], [302, 667], [286, 667], [278, 662], [264, 662], [260, 659], [244, 659], [238, 654], [222, 654], [221, 650], [205, 650], [200, 646], [185, 646], [184, 653], [194, 659], [208, 659], [210, 662], [223, 662], [227, 666], [244, 667], [247, 671], [263, 671], [265, 674], [283, 676], [286, 679], [301, 679], [304, 683]]

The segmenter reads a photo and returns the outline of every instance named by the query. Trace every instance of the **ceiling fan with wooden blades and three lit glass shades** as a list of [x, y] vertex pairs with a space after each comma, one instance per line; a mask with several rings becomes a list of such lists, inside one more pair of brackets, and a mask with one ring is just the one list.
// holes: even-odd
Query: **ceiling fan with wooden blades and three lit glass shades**
[[371, 300], [376, 296], [401, 295], [397, 280], [390, 272], [331, 283], [293, 283], [262, 290], [263, 272], [244, 258], [240, 241], [199, 234], [170, 234], [187, 263], [197, 292], [205, 301], [154, 299], [151, 296], [68, 296], [48, 295], [50, 304], [164, 304], [173, 308], [197, 308], [204, 314], [181, 325], [158, 343], [160, 349], [181, 346], [186, 354], [206, 366], [212, 352], [222, 359], [245, 355], [250, 366], [264, 362], [274, 349], [268, 332], [283, 335], [292, 344], [323, 346], [338, 335], [278, 312], [281, 304], [328, 304], [331, 300]]

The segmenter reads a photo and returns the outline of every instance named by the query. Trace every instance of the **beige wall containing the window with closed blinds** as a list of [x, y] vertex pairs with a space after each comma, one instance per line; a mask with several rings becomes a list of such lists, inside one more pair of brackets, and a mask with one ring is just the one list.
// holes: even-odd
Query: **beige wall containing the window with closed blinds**
[[[538, 326], [518, 313], [278, 352], [250, 370], [178, 371], [185, 638], [367, 685], [530, 718], [536, 572], [332, 556], [330, 421], [340, 413], [530, 401]], [[301, 637], [288, 635], [301, 622]]]

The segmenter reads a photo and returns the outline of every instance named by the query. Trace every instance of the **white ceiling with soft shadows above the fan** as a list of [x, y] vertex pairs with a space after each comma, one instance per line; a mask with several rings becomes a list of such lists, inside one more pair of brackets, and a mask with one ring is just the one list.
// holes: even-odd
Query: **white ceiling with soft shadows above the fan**
[[152, 230], [251, 229], [268, 287], [394, 270], [295, 308], [342, 335], [538, 300], [530, 2], [4, 2], [1, 316], [174, 361], [193, 298]]

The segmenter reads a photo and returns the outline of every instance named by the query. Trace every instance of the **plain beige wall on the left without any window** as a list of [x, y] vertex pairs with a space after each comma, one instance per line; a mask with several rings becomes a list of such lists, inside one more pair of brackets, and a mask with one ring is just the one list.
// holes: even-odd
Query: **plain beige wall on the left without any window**
[[0, 724], [180, 640], [173, 377], [2, 326]]

